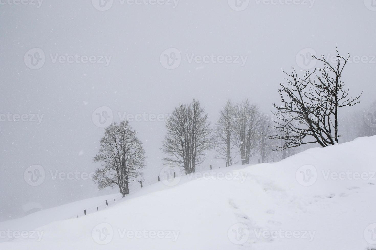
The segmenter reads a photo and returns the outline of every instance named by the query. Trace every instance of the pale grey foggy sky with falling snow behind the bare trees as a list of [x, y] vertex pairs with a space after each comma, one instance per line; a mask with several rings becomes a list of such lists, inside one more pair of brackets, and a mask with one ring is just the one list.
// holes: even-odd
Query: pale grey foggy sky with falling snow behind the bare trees
[[[372, 0], [251, 0], [242, 11], [231, 1], [180, 0], [171, 5], [121, 4], [97, 10], [95, 1], [44, 0], [14, 5], [0, 0], [0, 114], [39, 115], [42, 120], [0, 122], [0, 221], [23, 215], [22, 205], [38, 202], [43, 208], [93, 196], [117, 193], [97, 190], [94, 181], [52, 180], [50, 171], [94, 172], [92, 158], [104, 129], [92, 115], [106, 106], [113, 120], [126, 114], [168, 114], [179, 102], [200, 100], [214, 125], [226, 99], [249, 97], [270, 113], [279, 101], [278, 86], [291, 67], [302, 70], [301, 55], [367, 56], [349, 63], [343, 74], [350, 95], [363, 92], [366, 108], [376, 99], [376, 7]], [[299, 1], [298, 1], [299, 2]], [[93, 4], [94, 3], [94, 4]], [[240, 1], [238, 3], [241, 3]], [[259, 4], [258, 4], [259, 3]], [[306, 4], [306, 5], [305, 5]], [[373, 3], [376, 6], [375, 3]], [[244, 6], [244, 5], [243, 5]], [[30, 49], [45, 53], [39, 69], [24, 60]], [[166, 69], [161, 54], [176, 48], [181, 63]], [[310, 49], [312, 48], [312, 49]], [[53, 63], [50, 54], [111, 56], [99, 63]], [[246, 64], [190, 63], [189, 55], [242, 55]], [[27, 57], [27, 55], [26, 55]], [[162, 55], [163, 58], [163, 55]], [[308, 58], [308, 57], [307, 57]], [[99, 109], [101, 112], [102, 109]], [[35, 117], [36, 119], [36, 117]], [[95, 120], [95, 119], [94, 119]], [[132, 121], [144, 144], [146, 180], [163, 168], [159, 148], [164, 121]], [[204, 164], [223, 164], [209, 155]], [[24, 171], [45, 169], [45, 180], [30, 186]]]

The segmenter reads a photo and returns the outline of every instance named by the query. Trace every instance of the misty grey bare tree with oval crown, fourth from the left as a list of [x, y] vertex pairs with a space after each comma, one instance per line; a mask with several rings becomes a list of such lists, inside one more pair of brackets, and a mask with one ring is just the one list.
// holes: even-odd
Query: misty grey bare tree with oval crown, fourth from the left
[[235, 108], [233, 119], [233, 143], [238, 148], [241, 164], [249, 164], [249, 159], [257, 153], [260, 136], [260, 112], [258, 106], [243, 100]]

